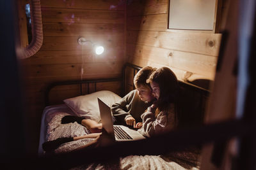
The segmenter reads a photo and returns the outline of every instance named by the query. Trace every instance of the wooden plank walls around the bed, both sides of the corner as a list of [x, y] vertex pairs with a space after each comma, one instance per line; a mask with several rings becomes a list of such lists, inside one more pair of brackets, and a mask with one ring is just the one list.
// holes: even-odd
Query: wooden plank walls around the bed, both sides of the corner
[[[21, 60], [29, 152], [37, 152], [46, 87], [79, 79], [83, 59], [83, 78], [118, 77], [129, 61], [141, 67], [169, 66], [183, 81], [214, 80], [221, 34], [168, 30], [168, 0], [42, 0], [41, 6], [44, 43], [38, 53]], [[106, 51], [92, 55], [90, 45], [77, 43], [80, 36]], [[99, 86], [120, 89], [120, 82]], [[61, 90], [65, 88], [73, 94], [79, 87]]]

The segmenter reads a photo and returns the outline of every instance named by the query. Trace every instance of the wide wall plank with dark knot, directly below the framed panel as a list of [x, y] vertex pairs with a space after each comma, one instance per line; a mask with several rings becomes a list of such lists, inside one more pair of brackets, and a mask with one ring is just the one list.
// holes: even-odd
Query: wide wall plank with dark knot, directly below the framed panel
[[221, 34], [200, 32], [127, 31], [127, 43], [218, 56]]

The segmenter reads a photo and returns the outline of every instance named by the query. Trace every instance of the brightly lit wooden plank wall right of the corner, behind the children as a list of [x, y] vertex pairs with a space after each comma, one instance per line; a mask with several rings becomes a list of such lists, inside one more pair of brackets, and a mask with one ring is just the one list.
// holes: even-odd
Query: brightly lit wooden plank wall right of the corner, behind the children
[[168, 30], [168, 0], [128, 1], [127, 60], [168, 66], [179, 80], [214, 80], [221, 34]]

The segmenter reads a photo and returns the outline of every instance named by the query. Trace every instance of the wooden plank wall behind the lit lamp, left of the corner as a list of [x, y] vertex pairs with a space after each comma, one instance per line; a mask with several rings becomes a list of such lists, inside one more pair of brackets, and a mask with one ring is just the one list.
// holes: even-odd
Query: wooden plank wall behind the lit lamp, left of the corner
[[[44, 0], [41, 1], [44, 43], [39, 52], [21, 60], [23, 86], [26, 87], [24, 108], [28, 120], [26, 139], [29, 152], [38, 148], [40, 119], [44, 109], [44, 92], [53, 81], [83, 78], [115, 78], [124, 65], [124, 3], [118, 0]], [[90, 44], [84, 48], [77, 38], [100, 43], [102, 55], [92, 55]], [[120, 89], [121, 83], [99, 84], [100, 90]], [[67, 93], [79, 88], [66, 86]], [[65, 91], [65, 89], [62, 90]], [[59, 94], [60, 95], [60, 94]], [[72, 94], [74, 97], [74, 94]], [[58, 96], [57, 96], [58, 97]]]

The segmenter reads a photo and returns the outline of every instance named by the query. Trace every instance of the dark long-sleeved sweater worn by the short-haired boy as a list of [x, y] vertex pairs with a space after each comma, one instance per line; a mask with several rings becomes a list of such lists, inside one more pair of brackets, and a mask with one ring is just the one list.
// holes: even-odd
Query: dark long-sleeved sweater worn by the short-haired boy
[[141, 114], [147, 110], [150, 104], [141, 101], [138, 91], [132, 90], [120, 101], [112, 105], [111, 111], [116, 118], [115, 124], [126, 125], [125, 119], [131, 116], [136, 120], [136, 123], [142, 122]]

